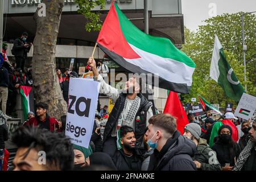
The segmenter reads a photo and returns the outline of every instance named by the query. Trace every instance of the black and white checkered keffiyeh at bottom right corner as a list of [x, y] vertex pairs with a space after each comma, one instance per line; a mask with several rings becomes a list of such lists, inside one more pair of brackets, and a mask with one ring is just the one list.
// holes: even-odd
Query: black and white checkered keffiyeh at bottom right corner
[[238, 156], [237, 162], [232, 171], [240, 171], [245, 164], [246, 160], [251, 155], [251, 150], [255, 147], [255, 142], [249, 140], [246, 144], [246, 147], [243, 149], [241, 154]]

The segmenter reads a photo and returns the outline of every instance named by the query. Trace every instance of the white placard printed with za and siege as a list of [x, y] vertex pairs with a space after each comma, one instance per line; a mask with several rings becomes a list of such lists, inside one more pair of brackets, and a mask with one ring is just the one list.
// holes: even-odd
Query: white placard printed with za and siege
[[65, 135], [73, 144], [89, 147], [100, 82], [71, 77]]

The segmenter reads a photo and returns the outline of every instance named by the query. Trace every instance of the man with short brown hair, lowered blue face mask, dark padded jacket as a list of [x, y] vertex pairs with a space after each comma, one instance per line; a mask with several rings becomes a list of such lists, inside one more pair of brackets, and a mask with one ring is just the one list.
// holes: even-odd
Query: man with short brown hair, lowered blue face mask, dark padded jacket
[[156, 114], [148, 122], [147, 144], [155, 148], [148, 171], [196, 171], [192, 160], [196, 144], [176, 130], [176, 118], [170, 114]]

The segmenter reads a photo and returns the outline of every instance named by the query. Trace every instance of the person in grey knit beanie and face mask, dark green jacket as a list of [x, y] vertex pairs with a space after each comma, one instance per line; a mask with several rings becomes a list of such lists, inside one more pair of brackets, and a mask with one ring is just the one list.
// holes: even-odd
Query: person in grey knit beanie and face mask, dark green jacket
[[184, 136], [196, 144], [196, 154], [192, 158], [196, 168], [200, 171], [220, 171], [221, 166], [207, 140], [200, 138], [201, 128], [196, 123], [189, 123], [184, 127]]

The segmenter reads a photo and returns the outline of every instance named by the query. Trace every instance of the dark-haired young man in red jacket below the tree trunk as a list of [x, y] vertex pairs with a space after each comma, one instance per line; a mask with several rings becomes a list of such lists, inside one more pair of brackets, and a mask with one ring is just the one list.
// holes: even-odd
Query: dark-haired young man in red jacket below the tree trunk
[[28, 119], [24, 126], [39, 126], [40, 128], [47, 129], [49, 131], [55, 131], [59, 129], [59, 122], [55, 118], [49, 117], [47, 114], [48, 105], [39, 102], [36, 105], [36, 117]]

